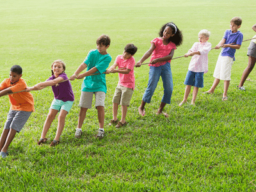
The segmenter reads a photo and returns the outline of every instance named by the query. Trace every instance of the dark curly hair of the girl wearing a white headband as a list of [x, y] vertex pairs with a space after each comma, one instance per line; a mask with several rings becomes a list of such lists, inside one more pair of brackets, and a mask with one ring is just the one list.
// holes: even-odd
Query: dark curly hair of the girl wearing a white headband
[[[172, 33], [175, 33], [175, 26], [173, 26], [173, 25], [175, 25], [173, 22], [168, 22], [168, 23], [166, 23], [166, 24], [164, 24], [163, 26], [162, 26], [162, 28], [160, 29], [160, 31], [159, 31], [159, 36], [163, 36], [163, 33], [164, 33], [164, 29], [168, 26], [168, 27], [170, 27], [170, 28], [172, 28]], [[176, 33], [175, 33], [175, 35], [173, 35], [173, 36], [170, 36], [170, 38], [168, 39], [168, 41], [169, 42], [173, 42], [173, 44], [175, 44], [177, 47], [179, 46], [179, 45], [181, 45], [182, 44], [182, 40], [183, 40], [183, 35], [182, 35], [182, 31], [180, 31], [179, 30], [179, 28], [176, 26], [176, 28], [177, 28], [177, 31], [176, 31]]]

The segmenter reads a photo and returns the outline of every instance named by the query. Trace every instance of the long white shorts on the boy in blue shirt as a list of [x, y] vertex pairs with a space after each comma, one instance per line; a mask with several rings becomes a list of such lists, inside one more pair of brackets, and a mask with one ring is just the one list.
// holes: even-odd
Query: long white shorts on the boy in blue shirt
[[219, 55], [216, 67], [213, 73], [213, 77], [220, 80], [231, 80], [231, 68], [234, 63], [234, 58], [228, 56]]

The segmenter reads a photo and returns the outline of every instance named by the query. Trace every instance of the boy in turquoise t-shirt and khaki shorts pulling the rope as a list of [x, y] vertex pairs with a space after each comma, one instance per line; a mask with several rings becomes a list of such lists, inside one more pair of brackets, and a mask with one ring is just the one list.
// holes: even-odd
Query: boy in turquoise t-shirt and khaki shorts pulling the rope
[[[106, 97], [107, 86], [106, 86], [106, 75], [103, 72], [108, 68], [109, 63], [112, 58], [108, 54], [107, 49], [110, 45], [110, 38], [107, 35], [101, 35], [97, 39], [97, 49], [91, 50], [86, 56], [85, 60], [77, 68], [76, 72], [70, 77], [70, 80], [82, 79], [84, 78], [81, 97], [79, 106], [80, 113], [78, 118], [78, 124], [76, 129], [76, 138], [80, 138], [82, 134], [82, 125], [86, 112], [88, 109], [92, 108], [92, 98], [93, 94], [95, 95], [95, 106], [98, 111], [99, 119], [99, 131], [97, 138], [104, 137], [104, 100]], [[87, 67], [86, 72], [80, 74]], [[97, 74], [93, 75], [92, 74]]]

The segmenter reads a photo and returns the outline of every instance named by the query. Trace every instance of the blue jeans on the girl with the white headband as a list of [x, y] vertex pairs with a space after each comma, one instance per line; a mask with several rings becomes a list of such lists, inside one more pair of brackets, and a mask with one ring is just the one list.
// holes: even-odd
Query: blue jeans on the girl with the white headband
[[162, 77], [164, 87], [164, 95], [161, 102], [164, 102], [166, 104], [171, 103], [173, 82], [171, 65], [168, 62], [159, 67], [150, 66], [148, 75], [148, 86], [142, 98], [144, 102], [150, 103], [151, 98], [156, 90], [156, 86], [160, 76]]

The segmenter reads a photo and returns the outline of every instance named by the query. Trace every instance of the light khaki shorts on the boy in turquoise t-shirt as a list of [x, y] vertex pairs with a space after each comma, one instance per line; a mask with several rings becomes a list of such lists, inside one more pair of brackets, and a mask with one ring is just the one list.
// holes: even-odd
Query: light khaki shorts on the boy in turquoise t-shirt
[[92, 97], [95, 94], [95, 107], [105, 106], [105, 92], [81, 92], [79, 107], [81, 108], [92, 108]]

